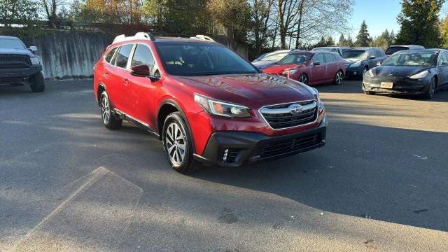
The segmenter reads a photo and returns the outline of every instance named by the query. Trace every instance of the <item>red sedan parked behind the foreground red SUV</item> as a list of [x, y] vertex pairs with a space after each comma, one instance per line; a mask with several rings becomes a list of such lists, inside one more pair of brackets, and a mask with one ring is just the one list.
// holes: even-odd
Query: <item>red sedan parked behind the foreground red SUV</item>
[[276, 64], [263, 69], [307, 85], [334, 83], [339, 85], [345, 75], [344, 61], [335, 52], [290, 52]]

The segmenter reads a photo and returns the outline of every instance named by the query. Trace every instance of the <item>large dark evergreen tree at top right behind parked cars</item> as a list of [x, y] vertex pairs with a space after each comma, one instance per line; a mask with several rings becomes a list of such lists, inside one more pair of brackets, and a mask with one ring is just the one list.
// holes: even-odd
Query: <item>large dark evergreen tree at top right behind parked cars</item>
[[440, 45], [438, 15], [445, 0], [402, 0], [398, 15], [400, 32], [396, 43], [419, 44], [428, 48]]

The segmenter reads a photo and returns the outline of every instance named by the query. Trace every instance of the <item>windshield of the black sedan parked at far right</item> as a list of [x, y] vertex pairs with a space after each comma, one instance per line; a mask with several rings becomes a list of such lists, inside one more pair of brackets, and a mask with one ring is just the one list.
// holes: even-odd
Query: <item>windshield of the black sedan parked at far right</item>
[[399, 53], [388, 58], [383, 66], [432, 66], [437, 52]]

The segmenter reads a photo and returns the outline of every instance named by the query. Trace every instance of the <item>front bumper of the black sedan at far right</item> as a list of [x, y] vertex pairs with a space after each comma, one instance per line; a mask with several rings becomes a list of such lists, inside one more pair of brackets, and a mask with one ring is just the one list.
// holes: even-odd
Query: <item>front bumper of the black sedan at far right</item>
[[[392, 88], [381, 88], [381, 82], [393, 83]], [[411, 79], [411, 78], [364, 78], [363, 91], [376, 92], [383, 94], [424, 94], [429, 88], [430, 78]]]

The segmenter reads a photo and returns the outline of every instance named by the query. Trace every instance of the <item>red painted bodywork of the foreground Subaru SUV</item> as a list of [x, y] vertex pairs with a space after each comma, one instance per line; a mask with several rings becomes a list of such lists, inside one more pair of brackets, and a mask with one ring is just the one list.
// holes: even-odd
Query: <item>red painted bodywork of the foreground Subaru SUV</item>
[[[318, 112], [315, 123], [284, 130], [273, 130], [269, 127], [258, 111], [262, 106], [316, 99], [311, 87], [286, 78], [266, 73], [214, 76], [174, 76], [169, 74], [162, 64], [155, 43], [184, 43], [185, 41], [214, 43], [196, 42], [184, 38], [165, 38], [157, 41], [135, 39], [109, 45], [94, 68], [93, 90], [97, 101], [101, 91], [106, 90], [113, 108], [122, 111], [142, 125], [148, 126], [159, 136], [162, 135], [161, 123], [164, 120], [164, 118], [160, 118], [161, 107], [167, 104], [176, 106], [176, 109], [181, 111], [186, 119], [197, 155], [202, 155], [214, 132], [260, 132], [267, 136], [281, 136], [314, 129], [325, 118], [325, 110], [322, 109]], [[155, 61], [154, 67], [160, 71], [158, 80], [151, 81], [149, 78], [133, 76], [129, 68], [120, 68], [106, 62], [105, 57], [113, 48], [130, 43], [147, 45], [151, 49]], [[195, 94], [247, 106], [251, 109], [251, 117], [212, 116], [195, 102]]]

